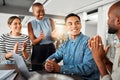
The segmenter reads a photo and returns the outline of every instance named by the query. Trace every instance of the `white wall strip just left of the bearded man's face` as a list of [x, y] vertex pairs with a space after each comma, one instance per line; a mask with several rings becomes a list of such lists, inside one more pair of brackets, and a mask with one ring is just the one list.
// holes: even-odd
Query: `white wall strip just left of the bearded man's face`
[[98, 8], [97, 34], [102, 37], [102, 41], [103, 41], [104, 45], [106, 45], [108, 9], [109, 9], [109, 5], [101, 6]]

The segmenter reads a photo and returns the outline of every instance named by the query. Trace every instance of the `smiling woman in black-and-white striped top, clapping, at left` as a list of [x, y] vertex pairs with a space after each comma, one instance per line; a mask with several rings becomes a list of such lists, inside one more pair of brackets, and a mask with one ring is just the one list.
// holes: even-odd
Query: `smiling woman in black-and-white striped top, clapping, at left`
[[27, 35], [21, 34], [21, 19], [17, 16], [10, 17], [8, 26], [11, 29], [10, 33], [0, 36], [0, 64], [14, 64], [12, 53], [28, 60], [31, 53], [30, 40]]

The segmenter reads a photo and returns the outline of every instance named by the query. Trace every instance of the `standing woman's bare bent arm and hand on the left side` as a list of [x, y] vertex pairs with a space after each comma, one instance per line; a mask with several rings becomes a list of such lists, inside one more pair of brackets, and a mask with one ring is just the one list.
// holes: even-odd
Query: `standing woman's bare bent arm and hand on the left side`
[[31, 40], [31, 42], [32, 42], [33, 45], [36, 45], [36, 44], [40, 43], [40, 41], [42, 39], [44, 39], [43, 32], [40, 32], [40, 36], [38, 38], [35, 38], [31, 22], [28, 23], [28, 35], [29, 35], [30, 40]]

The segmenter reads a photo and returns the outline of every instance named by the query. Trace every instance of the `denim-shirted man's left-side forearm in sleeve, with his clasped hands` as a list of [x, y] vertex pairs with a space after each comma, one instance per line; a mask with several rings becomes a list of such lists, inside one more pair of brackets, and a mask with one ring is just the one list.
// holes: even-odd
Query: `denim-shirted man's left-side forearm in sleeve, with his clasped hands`
[[48, 72], [60, 72], [58, 63], [63, 59], [65, 44], [46, 59], [44, 67]]

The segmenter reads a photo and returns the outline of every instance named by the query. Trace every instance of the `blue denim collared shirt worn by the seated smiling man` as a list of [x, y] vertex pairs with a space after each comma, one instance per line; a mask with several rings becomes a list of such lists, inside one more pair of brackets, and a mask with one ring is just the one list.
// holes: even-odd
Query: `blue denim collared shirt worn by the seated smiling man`
[[99, 72], [88, 47], [89, 37], [80, 33], [75, 40], [68, 39], [48, 59], [63, 60], [60, 73], [77, 74], [88, 80], [99, 80]]

